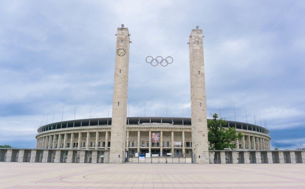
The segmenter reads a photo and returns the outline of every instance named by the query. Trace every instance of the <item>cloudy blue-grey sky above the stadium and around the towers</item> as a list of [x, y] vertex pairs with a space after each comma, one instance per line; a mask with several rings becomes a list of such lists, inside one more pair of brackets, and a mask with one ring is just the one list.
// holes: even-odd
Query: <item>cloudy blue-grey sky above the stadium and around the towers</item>
[[[0, 144], [50, 122], [107, 117], [117, 27], [131, 34], [129, 116], [190, 117], [188, 36], [204, 33], [207, 112], [264, 119], [271, 148], [305, 146], [304, 1], [1, 1]], [[172, 56], [152, 67], [146, 56]], [[166, 103], [168, 110], [166, 112]], [[183, 111], [182, 111], [183, 105]], [[156, 107], [156, 112], [155, 112]], [[55, 112], [55, 113], [54, 113]], [[254, 119], [254, 112], [256, 120]], [[53, 118], [54, 113], [54, 118]]]

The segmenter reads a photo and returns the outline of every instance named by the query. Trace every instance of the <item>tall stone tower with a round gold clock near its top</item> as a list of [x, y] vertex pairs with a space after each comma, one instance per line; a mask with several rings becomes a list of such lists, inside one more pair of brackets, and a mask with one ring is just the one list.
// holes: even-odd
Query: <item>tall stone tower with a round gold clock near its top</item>
[[114, 69], [113, 105], [109, 163], [125, 162], [127, 88], [129, 67], [128, 28], [117, 29], [117, 48]]

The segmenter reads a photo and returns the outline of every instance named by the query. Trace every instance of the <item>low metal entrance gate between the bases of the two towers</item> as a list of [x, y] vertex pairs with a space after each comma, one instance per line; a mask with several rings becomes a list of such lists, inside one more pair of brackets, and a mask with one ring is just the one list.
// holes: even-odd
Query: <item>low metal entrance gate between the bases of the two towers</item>
[[138, 157], [129, 157], [126, 163], [192, 163], [192, 157], [184, 154], [173, 155], [172, 153], [141, 153]]

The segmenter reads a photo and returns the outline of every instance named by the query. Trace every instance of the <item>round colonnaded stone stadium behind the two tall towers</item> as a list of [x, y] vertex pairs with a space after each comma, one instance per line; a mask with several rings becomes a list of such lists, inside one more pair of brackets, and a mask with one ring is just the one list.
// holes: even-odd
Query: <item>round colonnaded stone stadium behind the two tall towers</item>
[[[270, 150], [269, 131], [258, 125], [226, 121], [224, 127], [235, 127], [242, 132], [236, 150]], [[157, 156], [191, 157], [191, 118], [127, 117], [126, 151], [129, 157], [151, 153]], [[38, 149], [110, 149], [111, 118], [80, 119], [51, 123], [38, 128]], [[156, 140], [153, 141], [152, 136]], [[102, 151], [103, 153], [103, 151]], [[104, 154], [102, 154], [104, 155]], [[42, 157], [42, 154], [39, 158]], [[55, 158], [51, 153], [49, 158]], [[62, 158], [67, 158], [65, 155]], [[77, 153], [74, 159], [78, 159]], [[92, 159], [87, 153], [85, 159]]]

